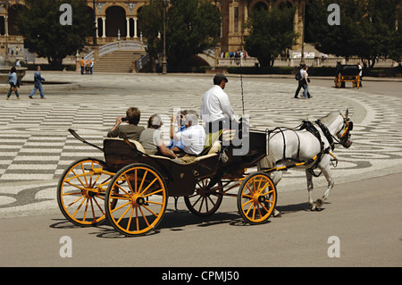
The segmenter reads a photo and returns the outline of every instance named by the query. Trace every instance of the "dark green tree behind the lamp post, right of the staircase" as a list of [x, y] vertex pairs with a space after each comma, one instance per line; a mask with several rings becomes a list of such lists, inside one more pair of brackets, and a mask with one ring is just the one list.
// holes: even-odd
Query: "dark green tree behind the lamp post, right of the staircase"
[[[151, 0], [138, 20], [151, 56], [163, 51], [163, 0]], [[166, 13], [166, 54], [171, 70], [186, 71], [188, 58], [216, 46], [221, 14], [209, 3], [171, 0]], [[158, 34], [161, 35], [158, 38]]]

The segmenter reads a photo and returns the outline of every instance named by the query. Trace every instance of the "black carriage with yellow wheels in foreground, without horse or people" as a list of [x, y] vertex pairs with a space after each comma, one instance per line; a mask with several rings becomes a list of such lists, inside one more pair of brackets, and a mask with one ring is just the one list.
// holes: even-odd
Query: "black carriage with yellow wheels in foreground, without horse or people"
[[[247, 222], [266, 222], [276, 204], [275, 186], [264, 172], [245, 174], [266, 155], [266, 133], [251, 131], [243, 139], [249, 142], [243, 155], [244, 146], [230, 144], [224, 150], [227, 159], [221, 159], [220, 147], [213, 146], [194, 162], [180, 163], [146, 155], [137, 141], [105, 138], [105, 162], [85, 158], [63, 172], [57, 189], [59, 207], [74, 224], [93, 226], [107, 218], [127, 236], [153, 230], [161, 222], [168, 197], [184, 197], [191, 213], [209, 215], [219, 208], [223, 196], [235, 196]], [[240, 155], [234, 155], [236, 151]], [[231, 182], [235, 183], [228, 187]], [[228, 193], [235, 187], [239, 187], [237, 195]]]

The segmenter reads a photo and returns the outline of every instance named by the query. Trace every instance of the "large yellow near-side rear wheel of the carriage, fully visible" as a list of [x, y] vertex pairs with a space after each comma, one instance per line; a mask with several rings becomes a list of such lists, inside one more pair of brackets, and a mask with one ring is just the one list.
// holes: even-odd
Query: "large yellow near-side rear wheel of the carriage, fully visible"
[[114, 175], [105, 196], [105, 212], [116, 231], [126, 236], [144, 235], [161, 222], [167, 200], [159, 172], [134, 163]]

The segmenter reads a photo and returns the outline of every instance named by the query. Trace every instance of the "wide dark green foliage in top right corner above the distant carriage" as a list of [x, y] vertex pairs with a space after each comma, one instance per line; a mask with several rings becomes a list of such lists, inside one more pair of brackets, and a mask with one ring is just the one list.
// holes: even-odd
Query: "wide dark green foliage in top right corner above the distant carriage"
[[[327, 7], [339, 4], [340, 25], [327, 24]], [[364, 67], [373, 68], [377, 56], [389, 56], [397, 61], [402, 55], [398, 0], [322, 0], [308, 5], [308, 38], [314, 38], [315, 48], [326, 54], [346, 58], [357, 55]]]

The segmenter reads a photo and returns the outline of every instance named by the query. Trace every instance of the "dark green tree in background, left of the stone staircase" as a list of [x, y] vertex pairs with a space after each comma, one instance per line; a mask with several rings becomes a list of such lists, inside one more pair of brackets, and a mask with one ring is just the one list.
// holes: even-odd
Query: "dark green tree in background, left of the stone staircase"
[[[81, 50], [91, 35], [93, 19], [86, 0], [25, 0], [17, 24], [29, 51], [46, 57], [51, 67], [63, 67], [63, 58]], [[62, 4], [71, 4], [72, 25], [60, 22]]]

